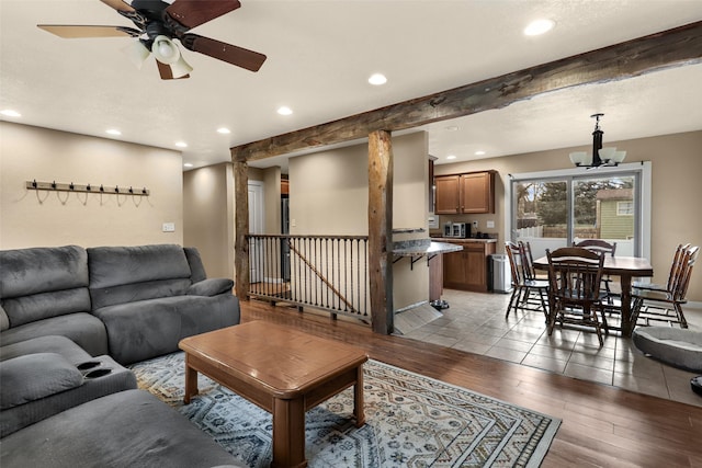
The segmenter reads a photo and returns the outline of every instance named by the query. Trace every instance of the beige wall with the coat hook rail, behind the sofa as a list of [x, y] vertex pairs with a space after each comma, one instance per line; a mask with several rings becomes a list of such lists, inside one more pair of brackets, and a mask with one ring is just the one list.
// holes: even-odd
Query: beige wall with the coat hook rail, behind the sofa
[[[150, 195], [34, 191], [26, 181], [147, 187]], [[183, 241], [179, 151], [0, 122], [0, 248]], [[173, 222], [174, 232], [162, 232]]]

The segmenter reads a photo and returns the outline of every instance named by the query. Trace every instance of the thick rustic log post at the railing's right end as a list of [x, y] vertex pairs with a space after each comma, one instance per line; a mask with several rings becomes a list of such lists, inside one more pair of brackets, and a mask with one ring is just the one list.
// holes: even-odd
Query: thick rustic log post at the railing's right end
[[394, 331], [393, 142], [390, 133], [369, 135], [369, 274], [373, 331]]

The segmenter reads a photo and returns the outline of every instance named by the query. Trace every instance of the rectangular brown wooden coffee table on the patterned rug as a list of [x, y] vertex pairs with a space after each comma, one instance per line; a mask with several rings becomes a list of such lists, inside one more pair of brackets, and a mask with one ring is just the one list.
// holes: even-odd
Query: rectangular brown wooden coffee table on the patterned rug
[[197, 373], [273, 414], [272, 467], [306, 467], [305, 412], [354, 386], [356, 426], [363, 413], [363, 363], [355, 346], [268, 322], [247, 322], [189, 336], [185, 404], [197, 395]]

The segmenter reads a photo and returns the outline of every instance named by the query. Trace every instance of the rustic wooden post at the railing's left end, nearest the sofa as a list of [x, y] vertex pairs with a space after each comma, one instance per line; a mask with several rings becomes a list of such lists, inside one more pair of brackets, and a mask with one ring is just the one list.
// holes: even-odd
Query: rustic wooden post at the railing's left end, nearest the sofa
[[238, 158], [234, 160], [235, 206], [235, 247], [234, 265], [236, 273], [235, 290], [239, 300], [249, 300], [249, 164]]

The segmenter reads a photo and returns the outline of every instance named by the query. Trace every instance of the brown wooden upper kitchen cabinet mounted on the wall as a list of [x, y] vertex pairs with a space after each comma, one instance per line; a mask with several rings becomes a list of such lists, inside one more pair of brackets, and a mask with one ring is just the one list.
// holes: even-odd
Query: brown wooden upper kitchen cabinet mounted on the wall
[[438, 215], [495, 213], [495, 171], [438, 175]]

